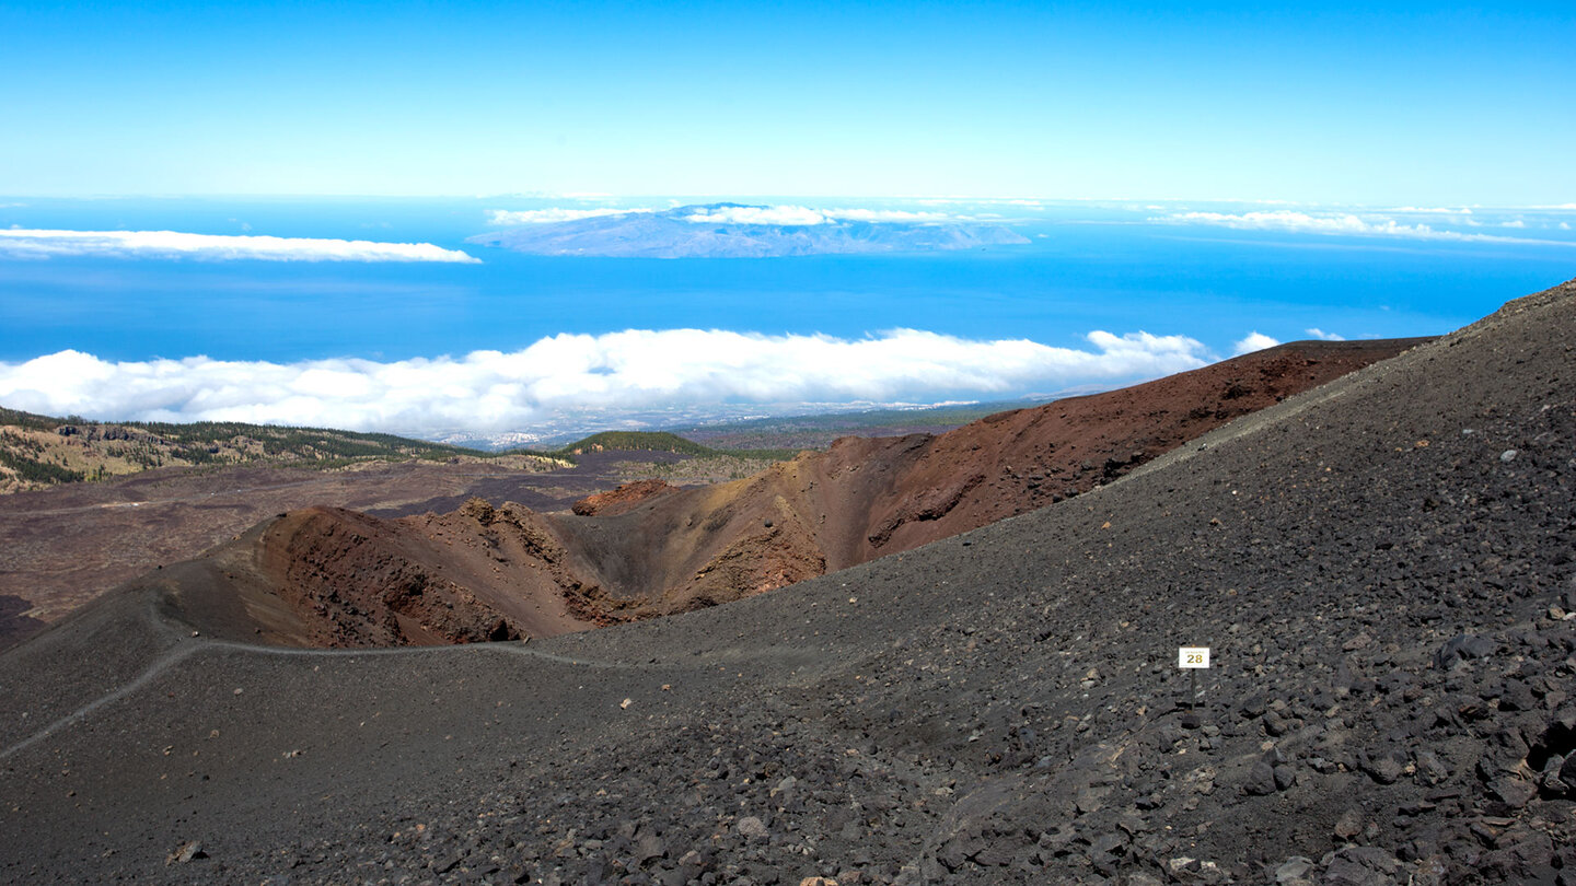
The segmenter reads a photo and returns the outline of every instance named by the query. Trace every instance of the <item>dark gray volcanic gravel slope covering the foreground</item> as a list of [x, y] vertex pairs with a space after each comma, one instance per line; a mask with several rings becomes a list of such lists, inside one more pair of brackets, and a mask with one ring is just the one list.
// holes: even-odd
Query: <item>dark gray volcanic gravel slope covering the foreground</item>
[[0, 878], [1573, 883], [1573, 318], [1565, 284], [1092, 493], [528, 645], [217, 642], [154, 572], [0, 654]]

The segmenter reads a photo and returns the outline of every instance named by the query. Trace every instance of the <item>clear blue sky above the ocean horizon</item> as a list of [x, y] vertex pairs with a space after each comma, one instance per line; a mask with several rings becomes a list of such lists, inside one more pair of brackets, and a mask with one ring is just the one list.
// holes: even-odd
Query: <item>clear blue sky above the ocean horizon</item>
[[1576, 200], [1576, 8], [0, 3], [0, 194]]

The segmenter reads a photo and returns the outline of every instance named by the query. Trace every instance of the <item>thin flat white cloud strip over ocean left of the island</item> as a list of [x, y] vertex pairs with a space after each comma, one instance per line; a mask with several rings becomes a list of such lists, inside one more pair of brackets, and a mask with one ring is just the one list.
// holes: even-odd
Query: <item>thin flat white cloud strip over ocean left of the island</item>
[[374, 243], [306, 236], [229, 236], [175, 230], [0, 230], [0, 255], [52, 259], [255, 259], [265, 262], [463, 262], [478, 259], [430, 243]]

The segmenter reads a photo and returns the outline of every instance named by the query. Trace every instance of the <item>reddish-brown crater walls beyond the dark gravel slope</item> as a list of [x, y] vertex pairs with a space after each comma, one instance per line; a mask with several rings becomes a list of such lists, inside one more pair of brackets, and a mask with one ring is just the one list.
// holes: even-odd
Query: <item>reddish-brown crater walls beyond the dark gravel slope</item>
[[[281, 517], [214, 557], [252, 635], [329, 646], [545, 637], [671, 615], [911, 550], [1110, 482], [1232, 418], [1426, 339], [1300, 342], [939, 437], [843, 438], [736, 482], [632, 484], [536, 514], [473, 501]], [[225, 591], [232, 596], [232, 591]], [[236, 623], [240, 635], [247, 626]]]

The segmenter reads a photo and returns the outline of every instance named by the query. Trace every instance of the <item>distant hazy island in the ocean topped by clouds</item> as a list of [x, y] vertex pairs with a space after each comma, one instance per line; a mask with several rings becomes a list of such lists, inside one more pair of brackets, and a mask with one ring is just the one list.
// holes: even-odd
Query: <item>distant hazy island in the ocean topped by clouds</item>
[[561, 222], [536, 222], [466, 240], [533, 255], [618, 259], [769, 259], [851, 252], [931, 252], [1029, 243], [999, 224], [971, 221], [851, 221], [753, 224], [690, 221], [719, 211], [768, 210], [739, 203], [632, 211]]

